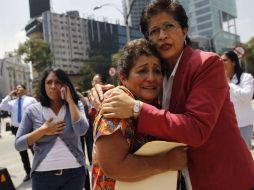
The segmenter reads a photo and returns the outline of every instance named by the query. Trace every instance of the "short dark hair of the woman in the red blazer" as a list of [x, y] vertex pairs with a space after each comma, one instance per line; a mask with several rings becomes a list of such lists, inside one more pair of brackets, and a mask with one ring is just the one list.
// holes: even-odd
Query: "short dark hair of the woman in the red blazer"
[[[149, 39], [148, 25], [151, 17], [162, 12], [172, 15], [182, 29], [189, 28], [188, 16], [183, 6], [177, 0], [155, 0], [143, 9], [140, 18], [140, 29], [147, 40]], [[188, 36], [186, 36], [186, 43], [188, 45], [191, 44]]]

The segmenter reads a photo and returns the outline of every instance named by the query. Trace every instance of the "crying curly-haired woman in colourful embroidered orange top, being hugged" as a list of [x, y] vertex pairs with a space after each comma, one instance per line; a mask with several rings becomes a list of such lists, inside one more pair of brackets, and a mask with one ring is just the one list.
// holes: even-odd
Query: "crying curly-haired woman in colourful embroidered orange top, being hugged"
[[[122, 51], [117, 67], [123, 91], [127, 96], [158, 106], [162, 86], [160, 60], [144, 39], [129, 42]], [[108, 97], [105, 97], [107, 99]], [[92, 184], [94, 190], [114, 189], [115, 180], [138, 181], [168, 170], [178, 170], [186, 164], [183, 147], [158, 156], [135, 156], [143, 144], [155, 140], [137, 133], [135, 118], [105, 119], [101, 113], [95, 119], [95, 147]]]

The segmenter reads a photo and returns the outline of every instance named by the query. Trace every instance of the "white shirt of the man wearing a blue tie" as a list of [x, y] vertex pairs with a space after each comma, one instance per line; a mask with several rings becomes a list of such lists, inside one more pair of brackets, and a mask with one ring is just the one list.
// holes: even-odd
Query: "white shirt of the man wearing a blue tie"
[[[21, 101], [22, 105], [22, 117], [24, 116], [26, 108], [36, 103], [36, 99], [30, 96], [23, 95]], [[11, 114], [11, 125], [14, 127], [19, 127], [18, 122], [18, 98], [12, 100], [11, 96], [7, 95], [0, 103], [0, 110], [8, 111]]]

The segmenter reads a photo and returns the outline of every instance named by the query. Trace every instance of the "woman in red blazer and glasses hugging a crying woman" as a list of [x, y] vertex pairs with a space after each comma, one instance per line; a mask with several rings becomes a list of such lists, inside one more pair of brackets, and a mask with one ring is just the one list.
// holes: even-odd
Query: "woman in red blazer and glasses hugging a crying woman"
[[[188, 190], [254, 189], [254, 162], [240, 136], [224, 65], [190, 48], [188, 18], [177, 1], [155, 0], [141, 30], [166, 61], [163, 110], [117, 94], [103, 102], [106, 118], [138, 116], [138, 132], [189, 145]], [[133, 110], [133, 107], [135, 108]]]

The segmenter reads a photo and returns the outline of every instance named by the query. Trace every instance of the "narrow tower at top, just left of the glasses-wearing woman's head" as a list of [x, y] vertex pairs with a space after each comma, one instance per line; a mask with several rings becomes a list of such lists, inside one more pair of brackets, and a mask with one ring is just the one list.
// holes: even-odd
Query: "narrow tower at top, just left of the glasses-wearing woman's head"
[[[131, 4], [134, 1], [132, 7]], [[122, 0], [124, 13], [127, 14], [130, 11], [129, 23], [134, 28], [139, 28], [140, 16], [143, 8], [152, 0]]]

